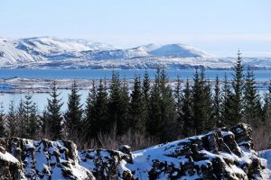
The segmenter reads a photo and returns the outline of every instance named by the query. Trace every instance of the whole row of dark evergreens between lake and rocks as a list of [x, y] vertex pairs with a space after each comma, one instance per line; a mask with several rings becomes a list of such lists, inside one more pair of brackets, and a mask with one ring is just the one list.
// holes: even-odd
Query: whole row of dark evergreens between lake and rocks
[[100, 79], [97, 85], [93, 80], [85, 105], [74, 81], [66, 112], [61, 112], [60, 95], [54, 81], [42, 114], [31, 95], [25, 95], [16, 108], [11, 102], [6, 114], [1, 105], [0, 137], [88, 141], [98, 139], [98, 134], [118, 137], [130, 130], [165, 142], [238, 122], [255, 129], [270, 122], [271, 85], [262, 98], [253, 70], [244, 69], [240, 53], [231, 80], [217, 76], [214, 85], [204, 68], [197, 68], [192, 80], [178, 77], [171, 82], [166, 70], [157, 67], [154, 80], [147, 71], [135, 75], [131, 89], [117, 71], [109, 83]]

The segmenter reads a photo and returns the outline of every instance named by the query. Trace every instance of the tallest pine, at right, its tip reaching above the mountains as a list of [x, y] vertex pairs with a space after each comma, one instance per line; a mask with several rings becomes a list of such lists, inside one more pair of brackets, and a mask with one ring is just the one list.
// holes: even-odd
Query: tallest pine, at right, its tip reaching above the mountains
[[232, 121], [233, 124], [240, 122], [243, 117], [242, 98], [243, 98], [243, 88], [244, 88], [244, 75], [243, 75], [242, 58], [240, 55], [241, 53], [238, 50], [238, 59], [233, 68], [234, 74], [232, 74], [233, 98], [232, 98], [231, 111], [233, 115], [230, 121]]

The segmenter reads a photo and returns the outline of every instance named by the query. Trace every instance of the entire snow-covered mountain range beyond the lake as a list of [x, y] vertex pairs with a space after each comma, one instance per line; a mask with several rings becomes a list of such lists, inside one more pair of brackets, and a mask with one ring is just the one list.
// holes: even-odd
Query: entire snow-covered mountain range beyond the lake
[[[235, 58], [216, 58], [183, 44], [146, 44], [131, 49], [89, 40], [0, 37], [0, 67], [27, 68], [187, 68], [232, 67]], [[271, 68], [271, 58], [244, 58], [257, 68]]]

